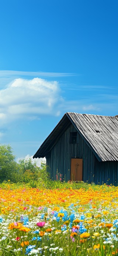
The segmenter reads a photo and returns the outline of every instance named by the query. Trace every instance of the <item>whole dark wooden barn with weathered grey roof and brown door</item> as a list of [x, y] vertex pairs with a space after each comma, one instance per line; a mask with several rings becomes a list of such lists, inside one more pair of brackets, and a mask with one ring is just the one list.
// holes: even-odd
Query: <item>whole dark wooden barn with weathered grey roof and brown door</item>
[[118, 116], [68, 112], [33, 158], [46, 157], [52, 180], [118, 184]]

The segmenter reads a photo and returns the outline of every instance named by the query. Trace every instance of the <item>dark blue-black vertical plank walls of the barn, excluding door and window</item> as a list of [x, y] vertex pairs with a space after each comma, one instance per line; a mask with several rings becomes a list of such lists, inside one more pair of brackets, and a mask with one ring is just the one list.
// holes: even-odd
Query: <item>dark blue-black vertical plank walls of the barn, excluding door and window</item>
[[118, 183], [118, 161], [99, 162], [89, 146], [77, 132], [77, 143], [69, 143], [70, 132], [76, 132], [71, 124], [46, 156], [46, 165], [52, 180], [56, 180], [56, 171], [62, 174], [62, 180], [70, 180], [71, 158], [83, 159], [83, 181], [95, 184]]

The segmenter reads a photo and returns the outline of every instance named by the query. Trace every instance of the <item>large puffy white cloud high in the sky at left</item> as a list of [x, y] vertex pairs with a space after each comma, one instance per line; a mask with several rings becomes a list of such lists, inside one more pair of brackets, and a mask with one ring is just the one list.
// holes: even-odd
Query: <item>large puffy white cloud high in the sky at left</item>
[[4, 124], [26, 116], [34, 120], [40, 114], [59, 115], [56, 108], [59, 102], [61, 97], [57, 81], [15, 79], [6, 89], [0, 90], [0, 122]]

